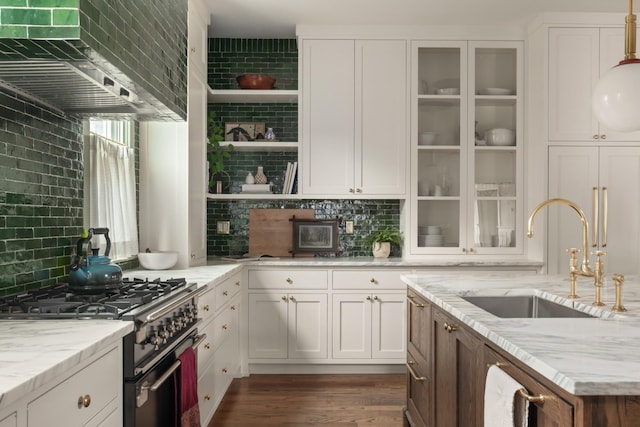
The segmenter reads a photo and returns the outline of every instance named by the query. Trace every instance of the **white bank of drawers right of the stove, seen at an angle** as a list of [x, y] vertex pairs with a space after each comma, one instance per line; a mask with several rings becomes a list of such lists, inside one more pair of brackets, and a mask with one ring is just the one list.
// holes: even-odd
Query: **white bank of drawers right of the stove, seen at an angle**
[[[211, 286], [211, 285], [210, 285]], [[208, 425], [229, 388], [240, 376], [241, 274], [214, 285], [198, 301], [202, 317], [198, 347], [198, 400], [200, 421]]]

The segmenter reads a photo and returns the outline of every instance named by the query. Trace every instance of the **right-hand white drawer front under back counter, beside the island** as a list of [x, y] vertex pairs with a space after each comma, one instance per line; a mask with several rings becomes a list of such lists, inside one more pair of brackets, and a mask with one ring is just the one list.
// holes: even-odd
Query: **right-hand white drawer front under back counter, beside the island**
[[404, 270], [335, 270], [333, 272], [333, 289], [406, 289], [407, 285], [400, 280], [401, 274], [409, 274]]

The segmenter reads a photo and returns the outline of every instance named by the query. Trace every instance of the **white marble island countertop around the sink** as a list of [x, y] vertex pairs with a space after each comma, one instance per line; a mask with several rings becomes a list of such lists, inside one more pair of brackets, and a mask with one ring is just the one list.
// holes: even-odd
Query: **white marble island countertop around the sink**
[[[567, 275], [568, 276], [568, 275]], [[566, 276], [509, 272], [403, 275], [405, 283], [471, 329], [517, 357], [542, 376], [575, 395], [640, 395], [640, 283], [626, 277], [624, 313], [612, 313], [615, 287], [605, 279], [602, 309], [591, 304], [593, 280], [578, 278], [576, 300]], [[561, 304], [602, 316], [596, 318], [507, 319], [496, 317], [465, 295], [537, 293]]]

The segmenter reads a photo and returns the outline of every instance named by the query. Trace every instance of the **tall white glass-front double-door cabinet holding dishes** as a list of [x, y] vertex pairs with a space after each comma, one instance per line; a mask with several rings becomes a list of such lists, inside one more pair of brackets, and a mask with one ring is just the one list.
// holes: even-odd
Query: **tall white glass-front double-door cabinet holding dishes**
[[412, 50], [411, 252], [522, 253], [522, 43]]

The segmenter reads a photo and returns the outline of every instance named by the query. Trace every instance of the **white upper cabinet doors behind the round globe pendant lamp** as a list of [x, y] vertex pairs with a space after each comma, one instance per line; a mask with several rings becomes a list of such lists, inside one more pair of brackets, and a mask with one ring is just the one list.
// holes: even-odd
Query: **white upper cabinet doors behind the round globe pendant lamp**
[[549, 28], [549, 141], [640, 141], [596, 119], [591, 95], [600, 77], [624, 58], [623, 28]]

